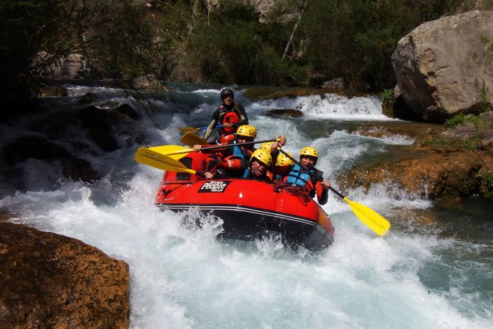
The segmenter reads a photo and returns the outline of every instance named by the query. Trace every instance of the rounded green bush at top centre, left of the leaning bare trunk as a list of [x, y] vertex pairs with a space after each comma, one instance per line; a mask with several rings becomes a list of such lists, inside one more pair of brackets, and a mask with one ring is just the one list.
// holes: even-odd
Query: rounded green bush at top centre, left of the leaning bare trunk
[[257, 21], [253, 7], [225, 1], [208, 24], [203, 21], [194, 29], [189, 53], [214, 82], [292, 85], [305, 80], [303, 65], [281, 61], [281, 51], [268, 40], [273, 40], [273, 30]]

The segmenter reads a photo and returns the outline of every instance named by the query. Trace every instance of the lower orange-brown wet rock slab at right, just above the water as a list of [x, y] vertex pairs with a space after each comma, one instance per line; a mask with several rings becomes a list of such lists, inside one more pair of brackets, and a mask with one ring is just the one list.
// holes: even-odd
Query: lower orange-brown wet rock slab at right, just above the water
[[493, 192], [493, 186], [486, 191], [488, 180], [493, 178], [493, 159], [488, 154], [468, 150], [440, 154], [416, 147], [407, 152], [409, 158], [359, 165], [340, 176], [338, 182], [344, 189], [369, 189], [372, 184], [385, 182], [389, 188], [397, 186], [428, 199], [485, 197]]

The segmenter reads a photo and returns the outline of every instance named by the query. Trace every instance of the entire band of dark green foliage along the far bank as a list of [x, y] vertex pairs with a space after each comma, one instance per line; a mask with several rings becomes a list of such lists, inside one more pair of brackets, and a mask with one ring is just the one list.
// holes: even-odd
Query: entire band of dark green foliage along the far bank
[[[260, 23], [242, 0], [211, 2], [151, 0], [146, 9], [134, 0], [2, 1], [3, 90], [27, 95], [49, 65], [81, 53], [104, 77], [154, 73], [165, 80], [177, 67], [190, 67], [194, 81], [300, 86], [342, 77], [349, 88], [387, 95], [396, 83], [391, 56], [399, 39], [458, 5], [279, 0]], [[477, 57], [488, 59], [492, 42], [483, 43], [485, 53]], [[42, 50], [53, 56], [34, 61]]]

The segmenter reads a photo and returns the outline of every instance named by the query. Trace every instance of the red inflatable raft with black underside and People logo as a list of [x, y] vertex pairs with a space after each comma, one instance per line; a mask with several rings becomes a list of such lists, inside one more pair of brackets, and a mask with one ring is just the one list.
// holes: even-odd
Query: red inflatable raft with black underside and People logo
[[[199, 170], [203, 155], [180, 159]], [[279, 232], [283, 243], [310, 250], [333, 242], [329, 216], [304, 193], [258, 180], [222, 178], [204, 180], [190, 173], [164, 173], [155, 204], [175, 211], [197, 207], [223, 219], [223, 239], [253, 240], [266, 232]]]

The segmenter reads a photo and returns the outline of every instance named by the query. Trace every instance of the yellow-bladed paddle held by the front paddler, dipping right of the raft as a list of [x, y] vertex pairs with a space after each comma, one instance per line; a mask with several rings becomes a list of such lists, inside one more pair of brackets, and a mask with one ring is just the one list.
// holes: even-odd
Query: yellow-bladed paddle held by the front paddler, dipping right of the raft
[[[292, 156], [290, 156], [288, 153], [283, 151], [280, 147], [278, 147], [279, 151], [283, 153], [285, 156], [290, 158], [291, 160], [294, 161], [294, 163], [298, 164], [301, 169], [306, 171], [310, 176], [315, 178], [316, 180], [320, 181], [320, 177], [312, 173], [312, 171], [309, 171], [301, 163], [296, 161]], [[355, 213], [356, 217], [358, 217], [368, 228], [371, 228], [375, 233], [384, 236], [387, 234], [389, 228], [390, 228], [390, 223], [387, 219], [381, 217], [381, 215], [377, 214], [375, 210], [372, 210], [368, 208], [367, 206], [364, 206], [362, 204], [358, 204], [357, 202], [353, 202], [344, 195], [342, 195], [340, 192], [336, 191], [332, 186], [329, 186], [329, 189], [338, 195], [338, 197], [342, 198], [345, 202], [349, 204], [351, 207], [351, 210]]]

